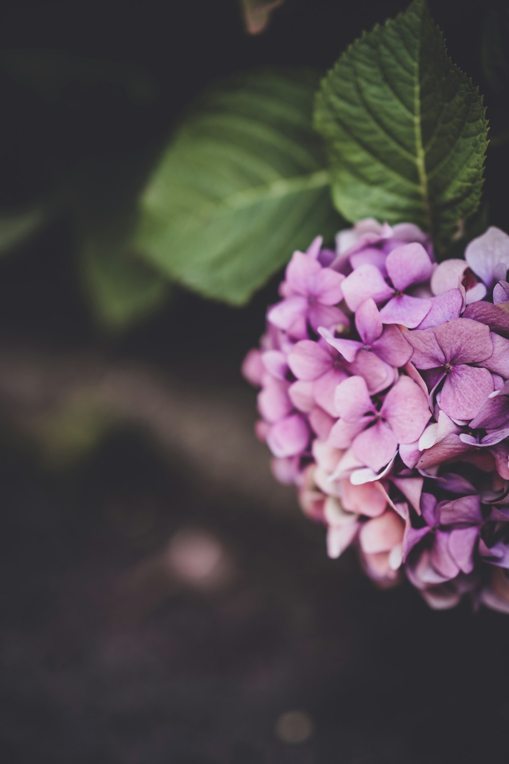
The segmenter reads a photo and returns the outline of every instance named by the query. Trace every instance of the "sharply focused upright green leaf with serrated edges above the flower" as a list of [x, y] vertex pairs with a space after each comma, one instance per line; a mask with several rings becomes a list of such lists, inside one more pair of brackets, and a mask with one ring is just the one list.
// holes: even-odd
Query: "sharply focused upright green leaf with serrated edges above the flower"
[[424, 0], [343, 53], [321, 85], [314, 123], [346, 219], [414, 222], [445, 244], [477, 209], [485, 109]]

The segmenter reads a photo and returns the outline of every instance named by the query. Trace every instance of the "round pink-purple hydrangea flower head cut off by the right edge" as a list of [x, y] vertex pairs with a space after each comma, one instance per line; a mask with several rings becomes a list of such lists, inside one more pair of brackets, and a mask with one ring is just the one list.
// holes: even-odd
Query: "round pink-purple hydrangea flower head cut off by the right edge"
[[[295, 252], [243, 374], [256, 433], [338, 557], [432, 607], [509, 612], [509, 236], [436, 264], [411, 224]], [[507, 573], [506, 573], [507, 571]]]

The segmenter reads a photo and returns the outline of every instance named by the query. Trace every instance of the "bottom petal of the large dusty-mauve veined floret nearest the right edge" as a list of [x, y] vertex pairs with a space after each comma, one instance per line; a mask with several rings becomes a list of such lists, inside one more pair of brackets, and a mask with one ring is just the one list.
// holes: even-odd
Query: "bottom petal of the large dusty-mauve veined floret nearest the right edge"
[[451, 419], [473, 419], [492, 392], [488, 369], [461, 364], [447, 374], [437, 403]]

